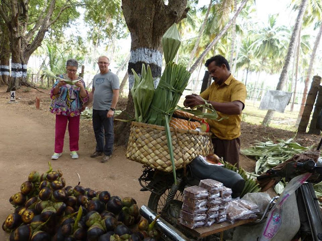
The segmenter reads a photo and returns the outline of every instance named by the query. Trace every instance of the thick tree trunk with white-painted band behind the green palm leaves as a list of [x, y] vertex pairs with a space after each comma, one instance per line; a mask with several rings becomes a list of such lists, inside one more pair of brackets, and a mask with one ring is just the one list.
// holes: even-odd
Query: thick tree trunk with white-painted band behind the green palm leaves
[[[161, 40], [165, 32], [174, 24], [187, 16], [189, 11], [187, 0], [170, 0], [168, 5], [163, 0], [122, 0], [123, 15], [131, 33], [131, 57], [128, 65], [129, 89], [134, 83], [131, 69], [141, 74], [142, 64], [149, 65], [157, 86], [162, 70]], [[118, 117], [128, 119], [134, 117], [134, 105], [131, 92], [128, 104]], [[115, 125], [116, 145], [126, 145], [130, 125], [117, 122]]]

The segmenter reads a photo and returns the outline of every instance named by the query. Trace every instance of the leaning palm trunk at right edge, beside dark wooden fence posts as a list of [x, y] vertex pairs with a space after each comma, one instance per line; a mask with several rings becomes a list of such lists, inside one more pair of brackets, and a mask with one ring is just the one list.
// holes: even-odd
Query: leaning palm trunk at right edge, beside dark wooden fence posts
[[[306, 121], [306, 118], [303, 115], [304, 109], [307, 108], [307, 106], [304, 105], [304, 103], [306, 101], [306, 92], [307, 92], [307, 89], [308, 89], [308, 83], [309, 83], [309, 80], [310, 80], [311, 75], [312, 75], [312, 70], [313, 70], [313, 64], [314, 64], [314, 59], [315, 59], [315, 55], [316, 55], [316, 50], [317, 50], [318, 44], [320, 42], [321, 35], [322, 35], [322, 24], [320, 24], [318, 34], [316, 35], [316, 38], [315, 38], [314, 46], [313, 46], [311, 57], [310, 57], [310, 63], [308, 65], [308, 70], [307, 70], [307, 74], [306, 74], [306, 78], [305, 78], [305, 86], [304, 86], [304, 91], [303, 91], [302, 105], [301, 105], [300, 112], [299, 112], [299, 116], [302, 115], [302, 117], [301, 117], [300, 125], [298, 126], [298, 129], [297, 129], [299, 132], [305, 132], [306, 131], [306, 126], [308, 124], [308, 120]], [[313, 80], [312, 80], [312, 83], [313, 83]], [[305, 93], [305, 95], [304, 95], [304, 93]], [[304, 119], [303, 119], [303, 117], [304, 117]]]

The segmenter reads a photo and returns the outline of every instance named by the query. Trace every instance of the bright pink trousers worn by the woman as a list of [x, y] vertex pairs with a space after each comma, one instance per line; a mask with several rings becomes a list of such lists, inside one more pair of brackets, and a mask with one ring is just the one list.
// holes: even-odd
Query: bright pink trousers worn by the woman
[[71, 152], [78, 151], [79, 117], [79, 115], [70, 117], [67, 115], [56, 114], [55, 153], [62, 153], [67, 122], [69, 133], [69, 150]]

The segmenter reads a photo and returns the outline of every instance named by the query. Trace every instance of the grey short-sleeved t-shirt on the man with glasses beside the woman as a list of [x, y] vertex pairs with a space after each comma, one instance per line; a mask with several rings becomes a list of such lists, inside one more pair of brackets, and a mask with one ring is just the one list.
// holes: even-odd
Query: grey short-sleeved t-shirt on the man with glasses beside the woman
[[108, 110], [111, 108], [113, 89], [120, 88], [119, 78], [111, 71], [97, 74], [93, 79], [93, 109]]

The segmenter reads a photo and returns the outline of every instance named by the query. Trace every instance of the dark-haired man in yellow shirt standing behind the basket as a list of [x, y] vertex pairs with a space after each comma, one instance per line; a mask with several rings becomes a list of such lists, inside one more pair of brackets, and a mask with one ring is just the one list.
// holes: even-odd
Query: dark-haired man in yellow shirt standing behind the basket
[[223, 157], [224, 161], [239, 167], [238, 137], [241, 111], [245, 107], [246, 87], [231, 75], [228, 61], [223, 56], [211, 57], [205, 66], [214, 82], [200, 95], [187, 95], [184, 105], [192, 108], [204, 104], [205, 99], [217, 111], [218, 119], [223, 117], [219, 122], [208, 119], [215, 153]]

